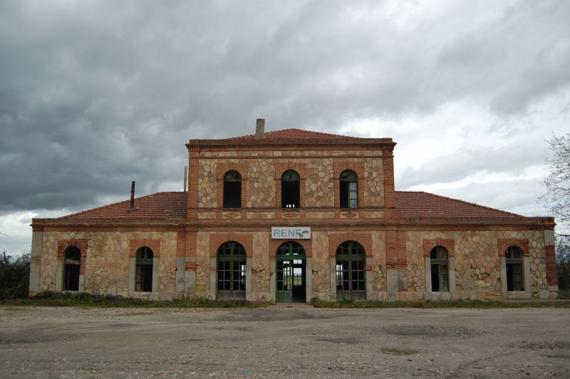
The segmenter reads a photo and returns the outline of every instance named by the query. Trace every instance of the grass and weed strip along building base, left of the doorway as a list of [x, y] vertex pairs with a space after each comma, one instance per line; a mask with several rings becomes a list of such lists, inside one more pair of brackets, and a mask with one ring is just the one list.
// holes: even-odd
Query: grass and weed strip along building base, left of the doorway
[[73, 306], [89, 308], [261, 308], [270, 306], [267, 301], [214, 301], [209, 298], [175, 298], [172, 300], [146, 300], [123, 296], [94, 295], [86, 292], [41, 292], [36, 296], [0, 301], [2, 306]]

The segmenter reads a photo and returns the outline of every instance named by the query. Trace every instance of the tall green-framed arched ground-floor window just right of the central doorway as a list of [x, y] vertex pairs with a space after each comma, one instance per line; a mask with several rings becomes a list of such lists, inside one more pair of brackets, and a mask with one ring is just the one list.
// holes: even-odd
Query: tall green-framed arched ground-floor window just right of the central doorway
[[366, 299], [366, 257], [361, 244], [346, 241], [336, 249], [336, 295], [338, 299]]

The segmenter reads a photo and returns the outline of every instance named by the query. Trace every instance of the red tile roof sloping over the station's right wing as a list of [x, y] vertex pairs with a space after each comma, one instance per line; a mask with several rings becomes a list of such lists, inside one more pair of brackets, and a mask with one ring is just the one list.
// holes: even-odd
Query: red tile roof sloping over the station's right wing
[[396, 217], [399, 218], [523, 217], [427, 192], [396, 191], [395, 197]]

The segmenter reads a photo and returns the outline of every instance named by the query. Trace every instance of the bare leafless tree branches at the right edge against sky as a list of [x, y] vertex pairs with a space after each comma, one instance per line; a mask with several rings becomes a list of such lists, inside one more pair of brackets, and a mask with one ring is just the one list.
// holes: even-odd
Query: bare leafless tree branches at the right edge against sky
[[554, 157], [546, 159], [550, 173], [544, 179], [546, 194], [541, 197], [552, 215], [561, 223], [570, 222], [570, 134], [553, 135], [549, 140]]

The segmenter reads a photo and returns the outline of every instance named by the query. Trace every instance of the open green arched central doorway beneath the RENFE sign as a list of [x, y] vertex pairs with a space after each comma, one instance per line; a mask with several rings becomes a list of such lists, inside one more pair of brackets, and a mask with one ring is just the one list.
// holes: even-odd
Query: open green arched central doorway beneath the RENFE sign
[[285, 242], [277, 248], [276, 261], [276, 296], [277, 303], [305, 303], [306, 254], [303, 246], [297, 242]]

